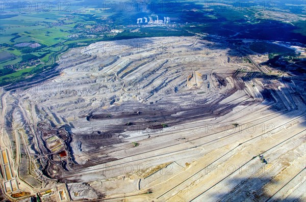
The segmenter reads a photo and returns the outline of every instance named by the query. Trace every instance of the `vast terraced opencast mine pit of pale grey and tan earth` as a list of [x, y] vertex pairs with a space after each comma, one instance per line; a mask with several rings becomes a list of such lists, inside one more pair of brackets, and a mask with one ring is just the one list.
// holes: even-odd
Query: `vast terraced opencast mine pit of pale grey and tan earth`
[[66, 183], [73, 200], [305, 199], [305, 74], [222, 40], [97, 42], [61, 55], [59, 76], [5, 92], [19, 186]]

